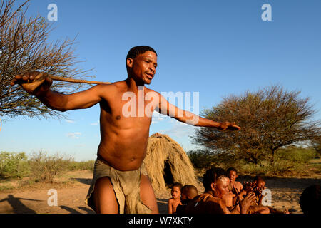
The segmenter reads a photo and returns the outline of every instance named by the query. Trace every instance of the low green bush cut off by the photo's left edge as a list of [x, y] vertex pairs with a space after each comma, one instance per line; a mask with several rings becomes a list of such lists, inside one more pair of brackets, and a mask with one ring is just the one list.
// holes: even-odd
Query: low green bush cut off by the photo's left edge
[[28, 174], [29, 166], [24, 152], [0, 152], [0, 178], [21, 178]]

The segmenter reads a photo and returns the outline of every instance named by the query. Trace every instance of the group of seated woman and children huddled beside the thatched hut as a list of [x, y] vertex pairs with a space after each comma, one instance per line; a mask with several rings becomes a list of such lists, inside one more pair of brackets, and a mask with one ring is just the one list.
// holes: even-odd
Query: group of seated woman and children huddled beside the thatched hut
[[168, 214], [288, 214], [263, 206], [265, 181], [256, 176], [253, 182], [236, 181], [238, 172], [230, 167], [212, 167], [203, 175], [205, 192], [201, 195], [194, 185], [175, 183], [168, 199]]

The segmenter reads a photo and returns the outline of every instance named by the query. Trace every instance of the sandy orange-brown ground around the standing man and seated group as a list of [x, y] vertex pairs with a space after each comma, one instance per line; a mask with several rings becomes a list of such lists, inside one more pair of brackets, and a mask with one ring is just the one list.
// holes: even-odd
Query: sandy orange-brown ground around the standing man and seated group
[[[91, 214], [84, 199], [91, 184], [92, 173], [89, 171], [69, 172], [66, 179], [72, 180], [70, 185], [46, 185], [37, 189], [24, 188], [0, 192], [1, 214]], [[239, 177], [240, 182], [249, 181], [251, 177]], [[266, 185], [272, 192], [272, 207], [290, 213], [302, 213], [299, 199], [302, 191], [314, 184], [321, 185], [321, 178], [281, 178], [267, 177]], [[57, 191], [57, 206], [49, 206], [49, 190]], [[203, 188], [199, 187], [200, 193]], [[167, 199], [170, 190], [156, 192], [158, 209], [161, 214], [167, 213]]]

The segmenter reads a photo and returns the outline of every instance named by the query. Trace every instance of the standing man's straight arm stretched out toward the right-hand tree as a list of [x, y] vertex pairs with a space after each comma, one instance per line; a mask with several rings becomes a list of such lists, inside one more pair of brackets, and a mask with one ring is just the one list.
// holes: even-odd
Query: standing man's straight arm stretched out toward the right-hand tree
[[190, 125], [199, 126], [199, 127], [211, 127], [217, 128], [218, 130], [240, 130], [238, 125], [235, 125], [235, 122], [215, 122], [213, 120], [208, 120], [206, 118], [202, 118], [199, 115], [195, 115], [194, 113], [190, 113], [186, 110], [181, 110], [177, 108], [175, 105], [169, 103], [163, 95], [158, 93], [159, 98], [159, 105], [158, 105], [158, 112], [162, 113], [163, 115], [168, 115], [176, 120], [188, 123]]

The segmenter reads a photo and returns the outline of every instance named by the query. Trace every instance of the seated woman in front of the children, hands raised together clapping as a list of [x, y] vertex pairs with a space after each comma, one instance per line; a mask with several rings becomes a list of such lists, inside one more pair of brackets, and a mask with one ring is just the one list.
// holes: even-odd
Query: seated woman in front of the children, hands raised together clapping
[[205, 192], [195, 197], [186, 207], [185, 214], [247, 214], [250, 205], [255, 203], [255, 195], [249, 194], [238, 200], [235, 207], [226, 207], [230, 178], [225, 170], [211, 168], [203, 176]]

